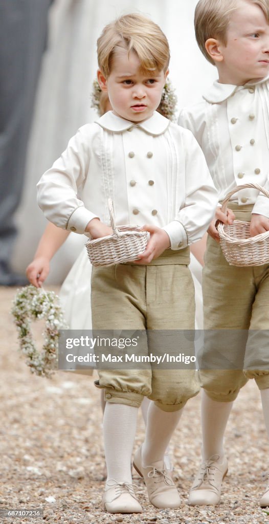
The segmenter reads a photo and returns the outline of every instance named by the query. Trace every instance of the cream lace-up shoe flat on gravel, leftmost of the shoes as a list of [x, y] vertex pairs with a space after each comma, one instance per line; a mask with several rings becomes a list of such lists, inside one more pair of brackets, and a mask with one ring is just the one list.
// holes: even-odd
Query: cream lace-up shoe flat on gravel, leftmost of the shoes
[[103, 495], [104, 509], [109, 513], [141, 513], [142, 508], [133, 491], [133, 485], [110, 479]]

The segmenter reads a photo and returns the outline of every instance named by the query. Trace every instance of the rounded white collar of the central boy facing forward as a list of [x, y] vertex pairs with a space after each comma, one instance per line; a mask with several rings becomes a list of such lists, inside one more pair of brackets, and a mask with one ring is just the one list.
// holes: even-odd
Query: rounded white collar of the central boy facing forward
[[154, 111], [150, 118], [136, 124], [114, 115], [112, 111], [108, 111], [96, 121], [96, 124], [114, 133], [122, 133], [122, 131], [131, 129], [132, 127], [141, 127], [146, 133], [157, 136], [165, 132], [170, 124], [170, 120], [157, 111]]

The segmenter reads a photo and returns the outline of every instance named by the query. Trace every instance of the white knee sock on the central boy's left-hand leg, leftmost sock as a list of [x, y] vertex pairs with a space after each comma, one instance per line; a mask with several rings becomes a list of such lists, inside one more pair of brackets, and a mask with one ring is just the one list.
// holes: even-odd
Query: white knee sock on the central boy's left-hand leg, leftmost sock
[[104, 446], [107, 481], [131, 484], [131, 455], [135, 441], [138, 408], [106, 403], [104, 412]]

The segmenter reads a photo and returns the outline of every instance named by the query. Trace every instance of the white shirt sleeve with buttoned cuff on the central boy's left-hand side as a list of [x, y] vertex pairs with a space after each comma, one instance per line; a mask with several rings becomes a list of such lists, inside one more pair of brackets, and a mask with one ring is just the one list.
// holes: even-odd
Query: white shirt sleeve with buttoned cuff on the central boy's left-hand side
[[77, 198], [89, 169], [91, 126], [83, 126], [71, 138], [68, 147], [46, 171], [37, 184], [37, 199], [44, 215], [53, 224], [83, 234], [96, 215]]

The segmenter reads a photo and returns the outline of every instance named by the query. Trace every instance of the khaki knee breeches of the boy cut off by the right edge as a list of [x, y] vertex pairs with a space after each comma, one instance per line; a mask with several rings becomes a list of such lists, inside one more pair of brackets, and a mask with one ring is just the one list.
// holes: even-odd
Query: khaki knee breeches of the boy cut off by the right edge
[[[250, 220], [252, 206], [229, 207], [238, 220]], [[234, 400], [248, 378], [254, 378], [260, 389], [268, 388], [269, 265], [229, 266], [219, 243], [209, 237], [203, 300], [205, 344], [199, 355], [201, 386], [212, 399], [219, 401]], [[215, 330], [225, 331], [218, 334]]]

